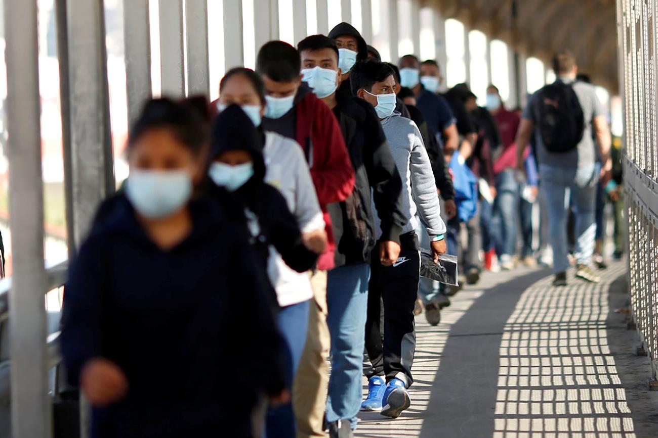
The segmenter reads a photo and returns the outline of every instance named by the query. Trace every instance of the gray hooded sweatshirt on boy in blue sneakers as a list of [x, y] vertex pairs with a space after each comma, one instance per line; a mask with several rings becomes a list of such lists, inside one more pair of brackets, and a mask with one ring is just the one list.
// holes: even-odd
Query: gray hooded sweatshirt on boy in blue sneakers
[[[402, 117], [399, 112], [393, 112], [392, 116], [382, 119], [382, 129], [402, 179], [402, 212], [407, 224], [401, 234], [417, 229], [416, 213], [430, 236], [445, 234], [432, 165], [416, 123]], [[376, 210], [374, 203], [372, 209]], [[378, 222], [378, 215], [375, 218]], [[376, 229], [381, 234], [379, 225], [377, 223]]]

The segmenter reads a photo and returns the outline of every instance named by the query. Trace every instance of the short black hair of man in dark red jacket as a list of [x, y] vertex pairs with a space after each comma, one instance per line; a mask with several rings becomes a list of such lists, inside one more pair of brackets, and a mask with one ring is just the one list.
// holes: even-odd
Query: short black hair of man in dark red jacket
[[290, 82], [299, 77], [299, 53], [284, 41], [269, 41], [258, 52], [256, 71], [276, 82]]

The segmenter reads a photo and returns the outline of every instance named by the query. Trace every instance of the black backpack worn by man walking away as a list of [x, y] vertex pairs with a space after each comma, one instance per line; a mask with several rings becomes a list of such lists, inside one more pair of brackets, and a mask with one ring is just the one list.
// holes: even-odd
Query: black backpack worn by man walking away
[[585, 115], [572, 85], [555, 81], [540, 90], [539, 126], [548, 152], [574, 150], [585, 132]]

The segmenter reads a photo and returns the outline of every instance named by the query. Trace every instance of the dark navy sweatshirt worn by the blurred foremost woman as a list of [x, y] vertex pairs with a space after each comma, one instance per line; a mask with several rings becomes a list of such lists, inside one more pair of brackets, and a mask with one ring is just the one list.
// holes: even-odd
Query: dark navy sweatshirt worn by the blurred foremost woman
[[70, 267], [60, 338], [72, 385], [94, 357], [128, 378], [124, 399], [93, 409], [92, 435], [219, 436], [229, 427], [247, 436], [258, 395], [280, 391], [284, 377], [243, 224], [216, 198], [200, 198], [190, 204], [190, 236], [163, 251], [123, 194], [102, 211]]

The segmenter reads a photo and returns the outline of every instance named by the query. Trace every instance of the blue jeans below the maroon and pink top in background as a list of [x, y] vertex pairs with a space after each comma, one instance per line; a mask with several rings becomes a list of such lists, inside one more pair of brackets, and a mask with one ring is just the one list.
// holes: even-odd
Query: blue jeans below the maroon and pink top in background
[[517, 252], [517, 200], [519, 182], [514, 170], [507, 169], [495, 178], [496, 198], [493, 204], [492, 230], [498, 255], [512, 256]]

